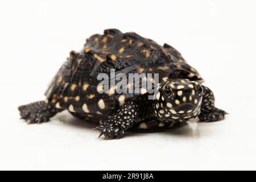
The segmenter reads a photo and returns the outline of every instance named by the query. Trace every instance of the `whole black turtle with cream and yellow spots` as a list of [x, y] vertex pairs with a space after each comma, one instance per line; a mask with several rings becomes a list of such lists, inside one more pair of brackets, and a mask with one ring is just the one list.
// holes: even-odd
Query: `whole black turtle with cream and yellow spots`
[[[114, 85], [109, 87], [101, 84], [98, 76], [110, 76], [113, 71], [127, 78], [151, 74], [146, 81], [151, 81], [154, 93], [141, 82], [125, 85], [133, 92], [115, 92], [123, 77], [110, 79]], [[158, 76], [158, 82], [152, 81], [152, 75]], [[221, 121], [227, 113], [214, 106], [214, 94], [203, 83], [199, 72], [174, 47], [113, 28], [90, 36], [81, 51], [69, 53], [46, 90], [46, 100], [18, 110], [27, 123], [48, 122], [68, 110], [77, 118], [96, 123], [100, 137], [118, 139], [134, 128], [175, 127], [192, 118]], [[135, 89], [139, 92], [134, 93]]]

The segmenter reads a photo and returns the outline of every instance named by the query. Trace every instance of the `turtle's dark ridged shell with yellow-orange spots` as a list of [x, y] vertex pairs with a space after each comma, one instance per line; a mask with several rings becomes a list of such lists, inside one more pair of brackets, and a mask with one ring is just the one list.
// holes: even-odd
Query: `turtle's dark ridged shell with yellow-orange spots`
[[[203, 81], [196, 69], [170, 45], [159, 46], [134, 32], [123, 34], [117, 29], [109, 29], [104, 35], [95, 34], [86, 39], [80, 52], [70, 52], [46, 91], [46, 102], [89, 117], [109, 115], [126, 101], [140, 96], [100, 94], [104, 88], [99, 85], [101, 81], [97, 76], [99, 73], [110, 76], [110, 69], [115, 69], [115, 75], [123, 73], [127, 77], [129, 73], [159, 73], [159, 81], [168, 77]], [[141, 94], [144, 93], [142, 90]]]

